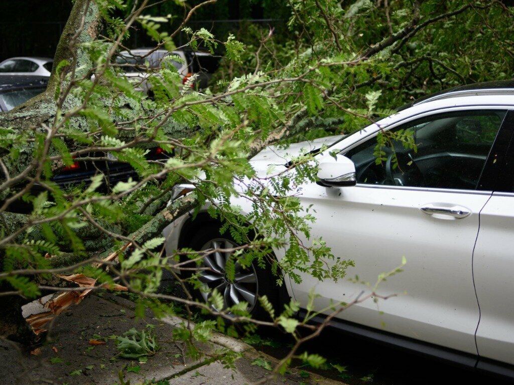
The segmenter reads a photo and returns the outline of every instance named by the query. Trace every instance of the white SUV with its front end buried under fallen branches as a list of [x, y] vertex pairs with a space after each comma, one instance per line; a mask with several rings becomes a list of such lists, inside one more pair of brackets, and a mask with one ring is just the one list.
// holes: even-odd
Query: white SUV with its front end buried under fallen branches
[[[386, 143], [377, 161], [377, 138], [398, 130], [410, 132], [415, 146]], [[316, 213], [311, 236], [322, 237], [335, 257], [354, 260], [347, 274], [361, 281], [374, 283], [402, 257], [407, 261], [402, 273], [379, 285], [378, 293], [389, 298], [339, 313], [340, 329], [514, 377], [513, 134], [514, 82], [492, 82], [413, 103], [335, 138], [317, 156], [318, 182], [305, 183], [296, 194]], [[264, 174], [268, 164], [287, 167], [275, 148], [261, 152], [254, 164]], [[250, 211], [244, 199], [234, 204]], [[207, 214], [183, 216], [164, 231], [168, 254], [179, 247], [236, 245], [219, 226]], [[279, 261], [285, 252], [273, 250]], [[227, 305], [245, 301], [256, 314], [256, 297], [283, 300], [270, 273], [258, 266], [228, 282], [229, 254], [205, 257], [208, 268], [200, 276], [224, 294]], [[285, 277], [287, 295], [306, 306], [315, 288], [320, 296], [314, 310], [323, 314], [331, 313], [331, 303], [369, 292], [346, 279], [319, 281], [297, 273], [301, 283]]]

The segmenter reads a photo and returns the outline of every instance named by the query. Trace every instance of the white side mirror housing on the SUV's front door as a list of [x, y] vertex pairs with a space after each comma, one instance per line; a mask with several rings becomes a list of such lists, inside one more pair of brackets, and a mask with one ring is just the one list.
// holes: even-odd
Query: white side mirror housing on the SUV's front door
[[341, 187], [355, 186], [355, 164], [343, 155], [337, 155], [335, 160], [324, 161], [319, 164], [318, 181], [320, 186]]

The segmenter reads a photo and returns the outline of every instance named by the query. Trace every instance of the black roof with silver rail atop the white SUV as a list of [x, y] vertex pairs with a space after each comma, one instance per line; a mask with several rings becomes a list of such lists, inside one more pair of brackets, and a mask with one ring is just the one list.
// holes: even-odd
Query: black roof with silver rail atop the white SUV
[[514, 95], [514, 80], [499, 80], [457, 86], [448, 90], [432, 93], [411, 103], [407, 103], [398, 108], [396, 111], [402, 111], [409, 107], [427, 102], [433, 102], [435, 100], [481, 95]]

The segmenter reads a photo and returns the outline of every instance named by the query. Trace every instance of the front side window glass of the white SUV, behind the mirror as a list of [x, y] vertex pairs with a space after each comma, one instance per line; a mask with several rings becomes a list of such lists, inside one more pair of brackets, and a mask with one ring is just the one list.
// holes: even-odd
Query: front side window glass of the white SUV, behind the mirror
[[475, 189], [505, 113], [432, 115], [379, 132], [345, 155], [357, 183]]

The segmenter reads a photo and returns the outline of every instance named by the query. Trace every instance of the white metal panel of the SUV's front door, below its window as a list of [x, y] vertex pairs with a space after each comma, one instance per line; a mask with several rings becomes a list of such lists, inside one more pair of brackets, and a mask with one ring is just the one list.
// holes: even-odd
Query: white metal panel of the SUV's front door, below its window
[[[366, 300], [352, 305], [339, 317], [476, 354], [479, 308], [471, 261], [478, 213], [489, 196], [359, 184], [304, 186], [299, 198], [302, 205], [312, 205], [309, 211], [314, 210], [317, 217], [311, 236], [322, 237], [337, 258], [355, 261], [355, 267], [347, 271], [349, 278], [358, 275], [373, 286], [379, 274], [399, 266], [403, 256], [407, 259], [403, 272], [378, 286], [379, 295], [393, 297], [378, 304]], [[458, 204], [472, 214], [455, 219], [420, 210], [434, 202]], [[307, 303], [310, 288], [316, 287], [321, 295], [315, 301], [318, 311], [327, 308], [330, 301], [351, 302], [361, 291], [364, 295], [371, 292], [369, 287], [347, 279], [319, 282], [305, 274], [302, 279], [301, 284], [292, 285], [295, 298]]]

